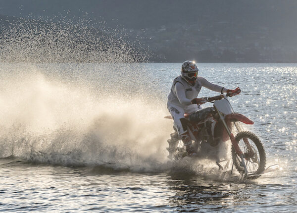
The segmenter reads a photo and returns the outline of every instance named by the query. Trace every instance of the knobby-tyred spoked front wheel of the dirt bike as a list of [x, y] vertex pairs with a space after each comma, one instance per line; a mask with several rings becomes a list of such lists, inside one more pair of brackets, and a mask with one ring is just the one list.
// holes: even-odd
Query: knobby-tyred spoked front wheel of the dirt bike
[[[244, 154], [247, 172], [253, 174], [263, 172], [266, 165], [266, 154], [260, 139], [255, 134], [248, 131], [239, 132], [235, 139]], [[233, 147], [231, 153], [235, 168], [240, 173], [245, 173], [245, 168], [241, 163], [242, 160]]]

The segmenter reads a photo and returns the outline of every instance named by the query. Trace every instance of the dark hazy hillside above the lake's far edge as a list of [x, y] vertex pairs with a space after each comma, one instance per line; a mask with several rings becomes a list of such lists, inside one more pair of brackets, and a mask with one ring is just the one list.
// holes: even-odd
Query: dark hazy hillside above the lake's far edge
[[124, 32], [127, 42], [140, 42], [149, 50], [150, 61], [297, 62], [295, 0], [0, 0], [0, 4], [0, 13], [8, 19], [87, 17], [98, 29], [104, 21], [104, 27]]

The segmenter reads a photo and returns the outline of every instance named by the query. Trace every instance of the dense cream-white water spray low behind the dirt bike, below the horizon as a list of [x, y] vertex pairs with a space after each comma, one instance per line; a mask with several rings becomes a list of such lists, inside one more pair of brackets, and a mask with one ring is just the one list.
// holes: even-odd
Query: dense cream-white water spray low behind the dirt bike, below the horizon
[[[1, 76], [1, 158], [146, 168], [147, 159], [166, 159], [167, 145], [160, 143], [172, 128], [163, 119], [166, 108], [157, 100], [128, 94], [132, 82], [122, 78], [121, 84], [101, 89], [92, 85], [97, 79], [69, 79], [62, 69], [49, 77], [49, 70], [37, 65], [26, 64], [22, 71], [17, 70], [20, 66], [2, 65], [14, 75]], [[101, 72], [97, 65], [90, 69]]]

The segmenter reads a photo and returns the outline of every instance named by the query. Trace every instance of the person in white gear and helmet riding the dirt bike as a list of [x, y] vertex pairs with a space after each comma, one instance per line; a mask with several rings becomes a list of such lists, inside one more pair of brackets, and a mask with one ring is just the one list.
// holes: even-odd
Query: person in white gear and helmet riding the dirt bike
[[201, 87], [206, 87], [215, 92], [231, 94], [236, 93], [239, 89], [229, 90], [208, 82], [205, 78], [198, 76], [198, 67], [195, 61], [184, 61], [181, 75], [173, 80], [171, 91], [168, 95], [167, 108], [173, 117], [176, 130], [185, 144], [189, 156], [192, 156], [195, 150], [187, 129], [187, 120], [184, 117], [184, 113], [193, 113], [201, 109], [200, 104], [206, 103], [205, 99], [197, 98]]

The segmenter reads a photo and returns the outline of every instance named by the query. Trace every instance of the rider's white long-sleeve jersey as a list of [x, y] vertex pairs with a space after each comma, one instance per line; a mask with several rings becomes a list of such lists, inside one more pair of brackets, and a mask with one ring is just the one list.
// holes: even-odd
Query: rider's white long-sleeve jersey
[[168, 95], [168, 104], [173, 104], [176, 106], [180, 106], [182, 108], [186, 108], [187, 106], [191, 105], [191, 101], [197, 98], [201, 87], [206, 87], [215, 92], [226, 92], [227, 89], [212, 84], [207, 81], [203, 77], [198, 77], [197, 81], [194, 86], [191, 86], [182, 76], [178, 76], [174, 79], [171, 91]]

